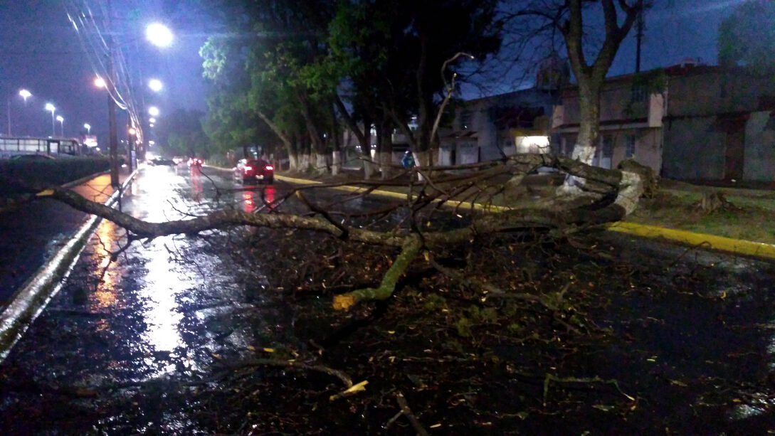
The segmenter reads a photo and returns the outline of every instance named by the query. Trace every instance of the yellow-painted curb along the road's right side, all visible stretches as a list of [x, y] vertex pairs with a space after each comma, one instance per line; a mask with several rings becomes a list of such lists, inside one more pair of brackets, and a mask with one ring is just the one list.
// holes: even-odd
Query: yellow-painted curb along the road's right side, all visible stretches
[[[274, 176], [276, 179], [284, 180], [293, 184], [322, 184], [322, 182], [305, 179], [294, 179], [292, 177]], [[342, 191], [362, 191], [361, 187], [336, 187]], [[406, 198], [406, 194], [391, 191], [371, 191], [370, 194], [383, 195], [385, 197]], [[504, 206], [495, 206], [488, 204], [470, 203], [467, 201], [446, 201], [449, 206], [462, 206], [463, 208], [474, 208], [481, 211], [508, 211], [511, 208]], [[632, 222], [618, 221], [608, 225], [608, 230], [612, 232], [629, 233], [646, 238], [663, 238], [674, 242], [680, 242], [688, 245], [701, 245], [708, 249], [716, 249], [725, 252], [733, 252], [746, 256], [766, 257], [775, 259], [775, 245], [765, 244], [763, 242], [746, 241], [743, 239], [726, 238], [725, 236], [706, 235], [704, 233], [687, 232], [675, 228], [658, 227], [656, 225], [635, 224]]]

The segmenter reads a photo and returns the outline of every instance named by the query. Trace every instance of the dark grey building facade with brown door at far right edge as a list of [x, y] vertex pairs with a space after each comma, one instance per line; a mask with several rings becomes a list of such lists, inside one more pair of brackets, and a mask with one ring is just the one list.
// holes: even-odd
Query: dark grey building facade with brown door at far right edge
[[775, 81], [742, 69], [684, 64], [666, 69], [663, 177], [775, 179]]

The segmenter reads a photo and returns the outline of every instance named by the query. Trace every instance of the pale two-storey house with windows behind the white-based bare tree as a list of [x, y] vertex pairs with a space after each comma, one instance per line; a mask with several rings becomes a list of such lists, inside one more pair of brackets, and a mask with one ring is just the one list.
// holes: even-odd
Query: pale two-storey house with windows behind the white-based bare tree
[[[603, 85], [600, 135], [593, 165], [615, 168], [635, 159], [659, 173], [662, 167], [662, 124], [667, 111], [667, 89], [661, 72], [611, 77]], [[576, 86], [564, 88], [552, 114], [557, 153], [573, 153], [580, 127]]]

